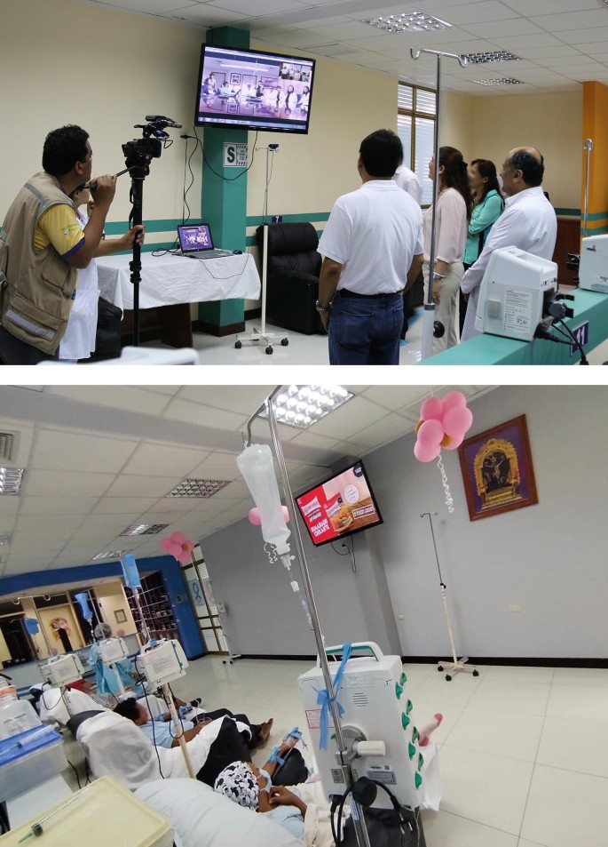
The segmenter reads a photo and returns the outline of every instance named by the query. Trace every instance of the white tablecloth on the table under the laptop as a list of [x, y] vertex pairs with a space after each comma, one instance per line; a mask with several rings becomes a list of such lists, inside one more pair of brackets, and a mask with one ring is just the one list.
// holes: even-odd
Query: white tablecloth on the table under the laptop
[[[101, 296], [122, 309], [133, 308], [131, 258], [106, 256], [97, 260]], [[141, 254], [139, 308], [259, 297], [260, 277], [249, 253], [205, 260]]]

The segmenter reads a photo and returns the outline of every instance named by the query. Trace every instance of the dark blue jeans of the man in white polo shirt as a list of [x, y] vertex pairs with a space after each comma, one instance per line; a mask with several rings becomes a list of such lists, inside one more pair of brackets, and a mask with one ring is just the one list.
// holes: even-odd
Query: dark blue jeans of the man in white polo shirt
[[399, 364], [401, 294], [342, 297], [329, 313], [329, 364]]

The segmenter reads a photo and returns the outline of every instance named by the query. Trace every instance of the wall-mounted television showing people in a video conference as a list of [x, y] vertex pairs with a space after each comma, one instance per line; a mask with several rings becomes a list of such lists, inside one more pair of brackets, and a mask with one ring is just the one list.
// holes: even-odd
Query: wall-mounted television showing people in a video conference
[[308, 132], [314, 60], [202, 45], [194, 124]]

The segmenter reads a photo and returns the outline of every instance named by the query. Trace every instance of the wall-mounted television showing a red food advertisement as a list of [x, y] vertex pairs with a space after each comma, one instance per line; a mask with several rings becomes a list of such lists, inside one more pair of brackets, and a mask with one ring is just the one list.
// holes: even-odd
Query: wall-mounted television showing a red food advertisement
[[300, 494], [296, 503], [315, 547], [383, 523], [360, 461]]

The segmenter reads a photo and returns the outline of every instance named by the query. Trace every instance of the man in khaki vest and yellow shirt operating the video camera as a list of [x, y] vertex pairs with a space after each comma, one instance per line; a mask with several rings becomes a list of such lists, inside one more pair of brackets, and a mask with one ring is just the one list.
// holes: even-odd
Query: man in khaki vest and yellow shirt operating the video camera
[[78, 268], [99, 248], [114, 199], [115, 176], [94, 181], [91, 217], [82, 228], [69, 194], [91, 180], [89, 135], [68, 125], [44, 141], [43, 172], [13, 200], [0, 234], [0, 360], [56, 359], [67, 329]]

